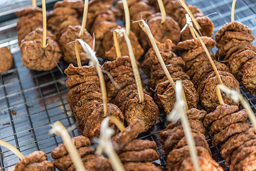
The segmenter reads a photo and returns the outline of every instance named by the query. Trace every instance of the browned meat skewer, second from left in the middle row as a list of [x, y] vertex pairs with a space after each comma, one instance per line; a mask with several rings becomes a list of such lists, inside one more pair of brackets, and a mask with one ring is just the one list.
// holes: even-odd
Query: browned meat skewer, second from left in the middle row
[[148, 131], [156, 120], [159, 119], [159, 109], [152, 97], [144, 90], [144, 101], [140, 102], [139, 93], [132, 72], [131, 60], [129, 56], [122, 56], [112, 62], [104, 63], [104, 70], [108, 71], [116, 84], [105, 79], [108, 92], [108, 100], [113, 101], [125, 115], [127, 124], [131, 124], [133, 120], [140, 119], [145, 123], [145, 130]]

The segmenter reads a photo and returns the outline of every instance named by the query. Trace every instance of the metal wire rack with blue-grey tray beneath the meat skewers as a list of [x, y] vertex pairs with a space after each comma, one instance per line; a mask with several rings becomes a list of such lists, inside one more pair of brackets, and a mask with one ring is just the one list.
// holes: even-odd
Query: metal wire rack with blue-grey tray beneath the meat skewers
[[[230, 22], [231, 0], [188, 0], [190, 5], [196, 5], [205, 14], [218, 14], [210, 16], [214, 23], [214, 33], [226, 22]], [[256, 36], [256, 2], [253, 0], [237, 1], [235, 8], [235, 20], [249, 26]], [[17, 147], [23, 155], [28, 155], [34, 150], [42, 150], [51, 158], [51, 150], [62, 143], [58, 136], [49, 135], [51, 123], [60, 120], [64, 127], [75, 125], [67, 103], [68, 89], [65, 86], [65, 75], [60, 74], [55, 68], [52, 71], [36, 72], [28, 70], [21, 61], [17, 33], [14, 20], [7, 26], [0, 25], [0, 35], [11, 31], [10, 34], [0, 39], [0, 47], [8, 46], [14, 56], [14, 67], [0, 75], [0, 139]], [[253, 42], [255, 44], [255, 42]], [[213, 50], [216, 51], [216, 50]], [[61, 63], [64, 70], [67, 64]], [[256, 97], [251, 96], [242, 86], [241, 93], [249, 101], [251, 108], [256, 113]], [[162, 144], [159, 142], [159, 132], [166, 128], [164, 115], [157, 121], [155, 127], [146, 133], [142, 133], [139, 139], [156, 141], [157, 152], [160, 154], [159, 164], [166, 166]], [[75, 128], [70, 136], [81, 135]], [[206, 134], [206, 140], [212, 150], [213, 158], [225, 169], [224, 159], [220, 156], [220, 150], [212, 146], [211, 139]], [[0, 166], [3, 170], [13, 170], [19, 161], [10, 150], [0, 146]]]

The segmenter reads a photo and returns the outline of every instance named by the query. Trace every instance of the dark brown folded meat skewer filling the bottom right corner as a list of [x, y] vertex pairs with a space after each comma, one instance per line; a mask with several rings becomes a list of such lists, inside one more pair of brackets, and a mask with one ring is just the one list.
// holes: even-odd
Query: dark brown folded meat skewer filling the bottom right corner
[[[205, 116], [204, 125], [210, 126], [213, 145], [221, 144], [221, 156], [233, 170], [254, 170], [256, 132], [246, 123], [248, 113], [237, 106], [222, 104]], [[250, 164], [247, 161], [251, 161]], [[252, 169], [254, 168], [254, 169]]]

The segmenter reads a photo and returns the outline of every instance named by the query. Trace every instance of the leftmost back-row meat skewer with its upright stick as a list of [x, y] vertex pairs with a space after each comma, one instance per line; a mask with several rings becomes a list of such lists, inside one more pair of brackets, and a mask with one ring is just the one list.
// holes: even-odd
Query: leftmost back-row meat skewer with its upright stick
[[36, 71], [55, 68], [62, 52], [56, 37], [46, 30], [45, 3], [43, 10], [38, 7], [27, 7], [15, 14], [21, 17], [17, 23], [17, 30], [24, 65]]

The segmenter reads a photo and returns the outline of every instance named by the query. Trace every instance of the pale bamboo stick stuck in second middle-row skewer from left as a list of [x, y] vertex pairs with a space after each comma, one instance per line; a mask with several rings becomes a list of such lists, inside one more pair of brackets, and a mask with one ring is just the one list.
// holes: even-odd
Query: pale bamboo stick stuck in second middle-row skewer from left
[[128, 35], [125, 34], [125, 29], [124, 28], [116, 29], [116, 32], [119, 35], [123, 35], [124, 39], [125, 39], [125, 42], [127, 43], [127, 47], [128, 47], [128, 50], [129, 50], [129, 56], [130, 56], [131, 63], [132, 63], [132, 70], [133, 70], [134, 78], [135, 78], [137, 89], [138, 89], [138, 92], [139, 92], [140, 103], [141, 103], [141, 102], [144, 101], [144, 93], [143, 93], [143, 87], [142, 87], [142, 83], [141, 83], [141, 79], [140, 79], [140, 72], [139, 72], [139, 68], [136, 64], [135, 56], [133, 54], [131, 41], [130, 41]]

